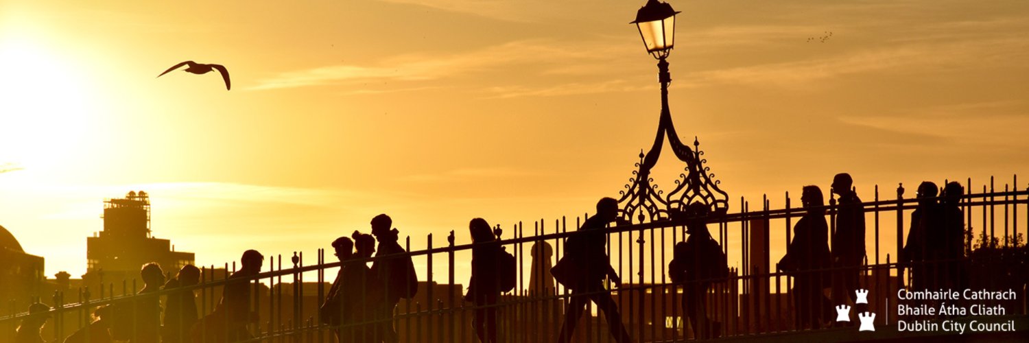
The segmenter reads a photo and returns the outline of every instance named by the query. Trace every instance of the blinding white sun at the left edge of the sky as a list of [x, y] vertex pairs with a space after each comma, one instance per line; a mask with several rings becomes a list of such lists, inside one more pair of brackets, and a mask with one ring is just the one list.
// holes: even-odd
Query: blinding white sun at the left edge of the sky
[[38, 43], [0, 37], [0, 164], [47, 168], [81, 148], [95, 111], [74, 67]]

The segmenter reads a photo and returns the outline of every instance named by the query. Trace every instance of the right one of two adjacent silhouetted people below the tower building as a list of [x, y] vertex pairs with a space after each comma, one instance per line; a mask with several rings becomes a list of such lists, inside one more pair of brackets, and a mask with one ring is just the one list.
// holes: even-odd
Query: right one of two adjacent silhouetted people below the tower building
[[[165, 283], [165, 289], [184, 288], [200, 283], [200, 269], [193, 265], [182, 266], [179, 274]], [[200, 320], [197, 312], [197, 295], [192, 289], [184, 289], [168, 295], [165, 305], [165, 327], [162, 342], [188, 342], [189, 330]]]

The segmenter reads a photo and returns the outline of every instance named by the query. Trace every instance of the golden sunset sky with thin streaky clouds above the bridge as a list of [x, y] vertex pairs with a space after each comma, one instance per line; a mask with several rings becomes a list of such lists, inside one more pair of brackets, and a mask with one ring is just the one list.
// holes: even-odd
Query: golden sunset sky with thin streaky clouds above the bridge
[[[0, 1], [0, 225], [50, 276], [83, 273], [103, 200], [139, 190], [203, 265], [328, 247], [379, 213], [415, 247], [468, 242], [476, 216], [531, 233], [617, 196], [658, 125], [643, 0]], [[1026, 187], [1029, 2], [670, 4], [672, 115], [732, 212], [827, 198], [838, 172], [864, 200]], [[155, 78], [186, 60], [233, 90]]]

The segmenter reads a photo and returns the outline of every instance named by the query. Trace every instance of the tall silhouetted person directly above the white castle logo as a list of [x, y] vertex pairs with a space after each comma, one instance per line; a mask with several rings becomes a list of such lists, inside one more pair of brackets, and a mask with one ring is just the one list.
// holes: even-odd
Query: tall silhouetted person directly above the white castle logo
[[[857, 300], [858, 278], [864, 262], [864, 207], [851, 188], [850, 174], [832, 178], [831, 192], [840, 196], [832, 234], [832, 301], [836, 305], [853, 304]], [[856, 305], [856, 304], [855, 304]], [[861, 304], [864, 305], [864, 304]], [[862, 309], [863, 311], [863, 309]]]

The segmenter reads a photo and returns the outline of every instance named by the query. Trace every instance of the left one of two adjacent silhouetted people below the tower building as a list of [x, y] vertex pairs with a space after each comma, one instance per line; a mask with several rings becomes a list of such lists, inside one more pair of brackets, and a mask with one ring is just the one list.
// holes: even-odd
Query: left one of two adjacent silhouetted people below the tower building
[[136, 328], [133, 343], [156, 343], [161, 329], [161, 299], [155, 296], [145, 296], [161, 290], [165, 285], [165, 272], [161, 265], [148, 263], [139, 271], [143, 279], [143, 289], [136, 294]]

